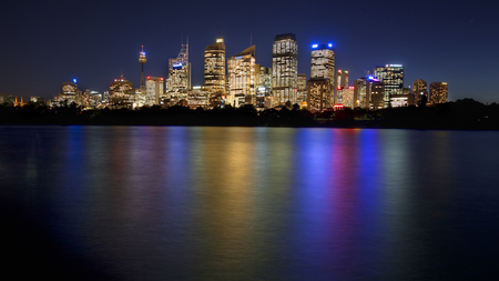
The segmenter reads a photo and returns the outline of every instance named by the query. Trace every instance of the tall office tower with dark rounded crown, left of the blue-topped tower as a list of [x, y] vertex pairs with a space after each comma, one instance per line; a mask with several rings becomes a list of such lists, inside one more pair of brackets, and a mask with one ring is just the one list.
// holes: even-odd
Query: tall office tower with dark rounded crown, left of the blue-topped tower
[[298, 44], [293, 33], [278, 34], [272, 49], [273, 107], [296, 103], [298, 74]]

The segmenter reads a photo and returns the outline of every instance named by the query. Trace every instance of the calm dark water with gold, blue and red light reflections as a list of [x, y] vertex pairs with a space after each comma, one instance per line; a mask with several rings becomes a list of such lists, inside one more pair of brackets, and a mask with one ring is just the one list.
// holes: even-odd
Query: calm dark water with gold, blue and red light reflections
[[498, 277], [498, 141], [471, 131], [0, 127], [3, 241], [12, 264], [62, 279]]

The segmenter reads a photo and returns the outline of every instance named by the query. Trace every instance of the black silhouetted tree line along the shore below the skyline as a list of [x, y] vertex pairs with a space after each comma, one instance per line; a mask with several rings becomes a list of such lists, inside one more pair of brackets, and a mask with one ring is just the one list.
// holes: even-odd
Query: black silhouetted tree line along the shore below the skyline
[[332, 127], [498, 130], [499, 106], [472, 99], [434, 107], [404, 107], [369, 111], [348, 109], [313, 113], [298, 107], [283, 107], [257, 112], [252, 106], [241, 108], [144, 107], [139, 110], [81, 110], [77, 104], [42, 107], [0, 106], [1, 124], [95, 124], [95, 126], [243, 126], [243, 127]]

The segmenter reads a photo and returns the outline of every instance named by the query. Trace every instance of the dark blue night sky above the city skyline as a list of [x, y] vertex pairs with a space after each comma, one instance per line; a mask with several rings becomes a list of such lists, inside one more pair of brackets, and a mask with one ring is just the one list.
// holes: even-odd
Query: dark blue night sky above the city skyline
[[[350, 80], [376, 64], [403, 63], [405, 84], [449, 83], [449, 100], [499, 101], [499, 3], [485, 1], [2, 1], [0, 93], [51, 98], [72, 78], [103, 92], [123, 74], [140, 83], [166, 77], [167, 59], [189, 36], [193, 86], [203, 52], [223, 32], [227, 58], [256, 44], [272, 67], [274, 36], [293, 32], [298, 69], [310, 73], [310, 46], [330, 41]], [[350, 82], [352, 83], [352, 82]]]

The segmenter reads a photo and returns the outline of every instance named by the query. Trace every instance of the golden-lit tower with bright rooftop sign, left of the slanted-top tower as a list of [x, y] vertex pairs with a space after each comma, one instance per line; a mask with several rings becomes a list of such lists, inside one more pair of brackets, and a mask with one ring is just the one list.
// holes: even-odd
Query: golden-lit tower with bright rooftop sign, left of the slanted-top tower
[[216, 39], [204, 50], [204, 89], [210, 93], [225, 93], [225, 44]]

